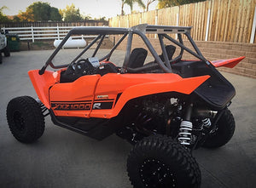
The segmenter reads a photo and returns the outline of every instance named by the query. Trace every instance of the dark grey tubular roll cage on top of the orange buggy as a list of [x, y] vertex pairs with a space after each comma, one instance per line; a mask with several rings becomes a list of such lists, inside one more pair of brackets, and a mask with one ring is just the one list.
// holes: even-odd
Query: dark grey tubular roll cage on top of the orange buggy
[[[153, 68], [153, 67], [157, 67], [157, 66], [160, 66], [160, 68], [163, 71], [167, 72], [167, 73], [172, 73], [172, 66], [171, 66], [171, 64], [172, 64], [172, 62], [175, 62], [175, 61], [180, 60], [182, 58], [183, 50], [189, 52], [189, 54], [194, 55], [199, 60], [205, 61], [207, 63], [207, 65], [208, 65], [207, 60], [203, 57], [203, 55], [201, 54], [201, 51], [199, 50], [199, 48], [197, 48], [195, 42], [193, 41], [192, 37], [190, 36], [191, 28], [192, 27], [184, 27], [184, 26], [149, 26], [147, 24], [137, 25], [137, 26], [133, 26], [131, 28], [76, 27], [76, 28], [73, 28], [71, 31], [69, 31], [67, 33], [67, 36], [63, 38], [63, 40], [61, 41], [60, 45], [55, 49], [53, 54], [51, 54], [49, 56], [49, 59], [46, 61], [46, 63], [42, 67], [42, 69], [39, 71], [39, 75], [43, 75], [44, 74], [44, 71], [46, 70], [47, 66], [51, 66], [54, 69], [60, 69], [60, 68], [65, 68], [65, 67], [69, 66], [69, 64], [61, 65], [61, 66], [55, 66], [52, 63], [52, 60], [54, 59], [55, 55], [58, 54], [58, 52], [61, 50], [63, 45], [67, 42], [67, 39], [69, 37], [71, 37], [73, 35], [88, 35], [88, 34], [89, 35], [97, 35], [97, 37], [95, 37], [88, 44], [88, 46], [85, 47], [83, 49], [83, 51], [77, 57], [75, 57], [75, 59], [71, 63], [74, 63], [76, 60], [79, 60], [79, 58], [93, 44], [95, 44], [99, 39], [100, 39], [100, 42], [96, 46], [96, 49], [95, 49], [95, 51], [93, 53], [93, 57], [96, 56], [96, 53], [97, 53], [98, 49], [101, 47], [102, 42], [103, 42], [103, 40], [104, 40], [104, 38], [106, 36], [108, 36], [108, 35], [123, 35], [119, 39], [119, 41], [113, 46], [113, 48], [110, 50], [110, 52], [107, 55], [105, 55], [104, 57], [102, 57], [102, 59], [100, 59], [100, 61], [102, 61], [102, 60], [109, 60], [111, 55], [113, 54], [113, 51], [119, 46], [120, 43], [122, 43], [124, 41], [125, 37], [128, 36], [127, 44], [126, 44], [125, 60], [124, 60], [124, 64], [123, 64], [122, 69], [121, 69], [122, 73], [125, 73], [127, 71], [129, 71], [129, 72], [145, 71], [148, 68]], [[154, 56], [154, 60], [156, 61], [156, 64], [154, 64], [154, 65], [145, 65], [145, 66], [138, 67], [138, 68], [130, 68], [130, 67], [128, 67], [128, 63], [129, 63], [130, 55], [131, 55], [132, 38], [133, 38], [134, 34], [137, 34], [139, 37], [141, 37], [143, 39], [143, 42], [148, 47], [148, 50]], [[156, 53], [156, 51], [154, 50], [154, 47], [148, 41], [148, 37], [146, 37], [145, 34], [158, 34], [159, 41], [160, 41], [160, 47], [162, 49], [163, 57], [164, 57], [164, 61], [165, 62], [163, 62], [160, 59], [160, 56]], [[170, 37], [168, 34], [177, 34], [177, 39], [178, 40]], [[195, 52], [183, 45], [183, 39], [182, 39], [181, 34], [184, 34], [189, 39], [189, 43], [192, 44]], [[171, 41], [172, 43], [175, 43], [177, 46], [179, 46], [181, 48], [180, 54], [178, 54], [177, 57], [175, 59], [173, 59], [173, 60], [168, 60], [168, 55], [166, 53], [165, 44], [163, 42], [164, 38], [166, 38], [167, 40]]]

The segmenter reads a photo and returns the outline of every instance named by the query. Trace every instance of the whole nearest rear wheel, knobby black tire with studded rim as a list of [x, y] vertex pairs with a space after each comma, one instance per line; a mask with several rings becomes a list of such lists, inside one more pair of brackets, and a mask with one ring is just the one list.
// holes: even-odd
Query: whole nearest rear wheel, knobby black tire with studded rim
[[128, 156], [127, 171], [135, 188], [201, 185], [201, 171], [189, 149], [164, 135], [138, 142]]

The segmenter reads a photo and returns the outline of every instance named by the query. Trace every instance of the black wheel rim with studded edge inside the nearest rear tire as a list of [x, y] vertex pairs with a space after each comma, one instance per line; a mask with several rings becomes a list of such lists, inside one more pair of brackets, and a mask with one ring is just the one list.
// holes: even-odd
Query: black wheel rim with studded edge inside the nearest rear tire
[[171, 168], [157, 159], [146, 159], [139, 168], [145, 187], [177, 187], [177, 180]]

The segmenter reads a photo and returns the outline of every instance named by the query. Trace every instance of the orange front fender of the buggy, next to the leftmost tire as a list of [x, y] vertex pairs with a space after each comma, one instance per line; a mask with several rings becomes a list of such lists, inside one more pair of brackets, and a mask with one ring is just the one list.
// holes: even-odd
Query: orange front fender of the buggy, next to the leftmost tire
[[49, 88], [60, 80], [59, 71], [44, 71], [39, 75], [39, 70], [28, 71], [33, 87], [35, 88], [39, 100], [49, 109]]

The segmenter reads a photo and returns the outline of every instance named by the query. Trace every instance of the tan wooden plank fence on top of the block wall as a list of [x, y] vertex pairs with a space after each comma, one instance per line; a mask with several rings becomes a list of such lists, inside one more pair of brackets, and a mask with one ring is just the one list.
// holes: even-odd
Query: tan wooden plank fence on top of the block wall
[[193, 26], [191, 35], [196, 41], [256, 43], [255, 14], [256, 0], [210, 0], [113, 17], [109, 26]]

